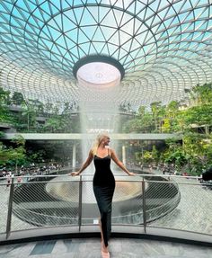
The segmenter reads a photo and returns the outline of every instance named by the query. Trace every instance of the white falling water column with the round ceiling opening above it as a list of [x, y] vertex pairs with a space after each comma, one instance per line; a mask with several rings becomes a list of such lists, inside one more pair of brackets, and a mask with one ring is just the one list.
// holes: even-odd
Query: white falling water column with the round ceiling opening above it
[[[119, 125], [119, 85], [121, 73], [109, 63], [91, 62], [77, 70], [84, 158], [91, 147], [86, 138], [99, 133], [117, 133]], [[87, 137], [86, 137], [87, 136]]]

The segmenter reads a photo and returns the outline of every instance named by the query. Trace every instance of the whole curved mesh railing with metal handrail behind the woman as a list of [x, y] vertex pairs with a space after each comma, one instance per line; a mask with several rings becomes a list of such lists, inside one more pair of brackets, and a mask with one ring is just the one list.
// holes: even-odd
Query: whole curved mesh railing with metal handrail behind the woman
[[[139, 174], [129, 177], [115, 174], [116, 190], [112, 206], [112, 226], [139, 227], [148, 234], [151, 228], [212, 236], [212, 191], [198, 177], [163, 174]], [[72, 233], [94, 232], [99, 211], [93, 195], [93, 175], [22, 176], [0, 181], [0, 237], [13, 239], [13, 234], [50, 228], [54, 235], [61, 228]], [[93, 227], [91, 227], [93, 226]], [[126, 228], [126, 229], [125, 229]], [[115, 229], [116, 230], [116, 229]], [[84, 232], [83, 231], [83, 232]], [[82, 233], [83, 233], [82, 232]], [[17, 236], [15, 236], [17, 238]]]

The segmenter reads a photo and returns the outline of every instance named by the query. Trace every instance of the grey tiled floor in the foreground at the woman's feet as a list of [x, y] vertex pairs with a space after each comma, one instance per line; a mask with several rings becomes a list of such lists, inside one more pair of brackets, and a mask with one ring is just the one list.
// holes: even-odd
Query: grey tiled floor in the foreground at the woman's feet
[[[98, 238], [49, 240], [0, 245], [0, 258], [101, 258]], [[110, 257], [116, 258], [212, 258], [212, 248], [151, 241], [110, 239]]]

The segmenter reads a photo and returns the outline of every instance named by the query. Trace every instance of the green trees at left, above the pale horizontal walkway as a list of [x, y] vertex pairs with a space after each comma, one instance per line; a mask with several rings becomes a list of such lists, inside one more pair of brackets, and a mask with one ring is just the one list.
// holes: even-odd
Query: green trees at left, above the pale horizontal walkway
[[72, 115], [76, 111], [75, 103], [25, 100], [22, 93], [0, 88], [0, 122], [18, 132], [79, 132], [79, 119]]

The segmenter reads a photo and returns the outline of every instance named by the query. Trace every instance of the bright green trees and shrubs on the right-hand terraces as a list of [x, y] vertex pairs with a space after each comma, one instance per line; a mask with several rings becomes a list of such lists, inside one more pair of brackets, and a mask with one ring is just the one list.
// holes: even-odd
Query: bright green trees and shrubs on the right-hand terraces
[[151, 110], [141, 107], [133, 120], [124, 125], [125, 132], [178, 133], [179, 138], [166, 141], [163, 151], [146, 150], [136, 153], [142, 163], [172, 164], [179, 171], [200, 174], [212, 166], [212, 84], [197, 85], [190, 91], [190, 103], [182, 106], [172, 101], [163, 106], [151, 104]]

